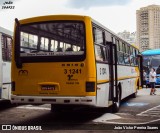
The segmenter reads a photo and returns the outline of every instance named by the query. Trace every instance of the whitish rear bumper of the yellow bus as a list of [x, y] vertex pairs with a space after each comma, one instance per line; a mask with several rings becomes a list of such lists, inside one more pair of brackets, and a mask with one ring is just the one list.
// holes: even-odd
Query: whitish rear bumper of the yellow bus
[[11, 95], [12, 103], [27, 104], [72, 104], [96, 106], [96, 96], [85, 97], [41, 97]]

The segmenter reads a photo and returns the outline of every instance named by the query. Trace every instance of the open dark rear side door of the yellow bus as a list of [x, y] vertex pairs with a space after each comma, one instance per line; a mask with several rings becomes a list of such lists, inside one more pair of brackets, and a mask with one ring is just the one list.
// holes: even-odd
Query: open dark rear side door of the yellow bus
[[117, 46], [112, 42], [107, 42], [109, 59], [109, 101], [112, 103], [118, 102], [119, 90], [117, 83]]

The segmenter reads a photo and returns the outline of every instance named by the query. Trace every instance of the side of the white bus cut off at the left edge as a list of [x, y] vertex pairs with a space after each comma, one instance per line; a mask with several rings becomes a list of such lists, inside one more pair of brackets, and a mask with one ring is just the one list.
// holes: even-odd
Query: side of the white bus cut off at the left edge
[[[0, 99], [2, 100], [11, 99], [11, 62], [8, 57], [11, 52], [12, 36], [11, 31], [0, 27]], [[5, 44], [2, 44], [2, 41]]]

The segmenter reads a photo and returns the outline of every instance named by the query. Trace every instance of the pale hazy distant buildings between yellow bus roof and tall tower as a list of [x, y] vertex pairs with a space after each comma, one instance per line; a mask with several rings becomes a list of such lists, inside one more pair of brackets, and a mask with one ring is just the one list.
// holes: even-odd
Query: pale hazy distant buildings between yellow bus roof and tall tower
[[126, 40], [128, 43], [136, 45], [136, 32], [131, 33], [125, 30], [123, 32], [119, 32], [118, 36]]

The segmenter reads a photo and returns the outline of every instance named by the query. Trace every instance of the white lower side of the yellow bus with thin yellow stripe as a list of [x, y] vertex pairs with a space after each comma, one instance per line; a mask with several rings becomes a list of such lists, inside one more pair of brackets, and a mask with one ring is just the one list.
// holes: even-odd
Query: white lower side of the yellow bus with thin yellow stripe
[[[121, 99], [135, 93], [139, 72], [136, 67], [118, 66], [118, 84], [121, 84]], [[97, 63], [97, 106], [109, 106], [109, 65]]]

